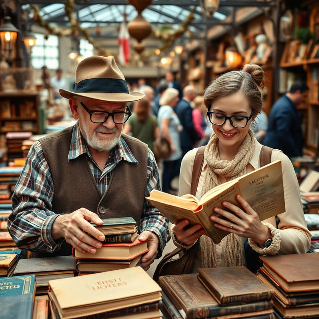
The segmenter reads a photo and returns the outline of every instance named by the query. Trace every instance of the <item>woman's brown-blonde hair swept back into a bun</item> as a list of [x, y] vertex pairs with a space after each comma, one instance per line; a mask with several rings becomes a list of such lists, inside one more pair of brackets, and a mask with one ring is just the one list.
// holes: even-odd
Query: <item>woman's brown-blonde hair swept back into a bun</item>
[[246, 64], [241, 71], [230, 71], [219, 76], [204, 91], [207, 109], [218, 98], [242, 92], [252, 109], [260, 112], [263, 106], [262, 89], [265, 85], [265, 71], [257, 64]]

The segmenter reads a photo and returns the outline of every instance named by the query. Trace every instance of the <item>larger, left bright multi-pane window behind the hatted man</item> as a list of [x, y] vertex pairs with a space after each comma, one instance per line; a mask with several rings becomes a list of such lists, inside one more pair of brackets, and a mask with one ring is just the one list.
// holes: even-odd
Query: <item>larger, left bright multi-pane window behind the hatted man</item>
[[46, 66], [48, 69], [56, 70], [59, 68], [59, 39], [56, 35], [36, 33], [36, 44], [32, 48], [32, 66], [40, 69]]

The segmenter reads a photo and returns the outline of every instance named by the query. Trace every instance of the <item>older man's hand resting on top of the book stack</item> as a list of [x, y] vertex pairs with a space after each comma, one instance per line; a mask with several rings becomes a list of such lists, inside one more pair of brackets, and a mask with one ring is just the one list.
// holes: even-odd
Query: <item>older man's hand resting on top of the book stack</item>
[[[99, 216], [86, 208], [80, 208], [73, 213], [58, 216], [52, 226], [51, 234], [54, 240], [65, 238], [81, 253], [96, 253], [97, 248], [101, 248], [100, 241], [105, 240], [105, 236], [89, 223], [92, 221], [97, 225], [102, 225], [103, 221]], [[98, 239], [90, 237], [88, 234]]]

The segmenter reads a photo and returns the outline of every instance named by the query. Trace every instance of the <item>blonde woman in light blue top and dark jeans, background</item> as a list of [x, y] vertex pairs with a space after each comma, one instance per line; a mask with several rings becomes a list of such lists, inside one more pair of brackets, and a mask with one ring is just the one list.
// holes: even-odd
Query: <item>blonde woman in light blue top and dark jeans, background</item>
[[158, 125], [160, 133], [168, 140], [171, 155], [163, 161], [162, 190], [172, 192], [171, 181], [179, 174], [180, 158], [182, 150], [180, 147], [181, 125], [174, 108], [179, 100], [178, 90], [168, 88], [160, 98], [160, 110], [158, 113]]

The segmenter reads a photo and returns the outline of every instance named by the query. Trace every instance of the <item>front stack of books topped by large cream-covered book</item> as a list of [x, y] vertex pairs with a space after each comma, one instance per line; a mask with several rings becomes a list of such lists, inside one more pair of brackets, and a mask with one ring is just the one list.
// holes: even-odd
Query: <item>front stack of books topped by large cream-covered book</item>
[[162, 318], [160, 286], [141, 267], [50, 280], [49, 288], [52, 319]]

